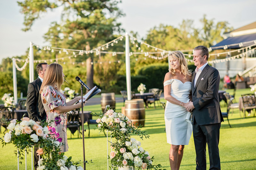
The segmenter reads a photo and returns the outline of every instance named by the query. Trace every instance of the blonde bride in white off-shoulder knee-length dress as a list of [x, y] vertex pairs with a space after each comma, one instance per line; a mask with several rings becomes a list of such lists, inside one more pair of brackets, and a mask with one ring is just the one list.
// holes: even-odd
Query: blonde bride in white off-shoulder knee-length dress
[[188, 145], [192, 134], [192, 118], [186, 110], [191, 96], [191, 71], [180, 51], [170, 55], [169, 72], [164, 77], [164, 99], [167, 100], [164, 120], [167, 143], [171, 144], [169, 161], [171, 170], [180, 168], [184, 145]]

